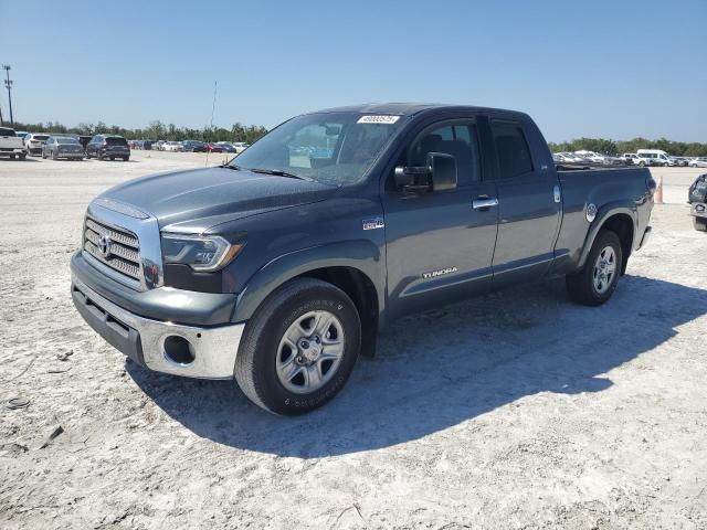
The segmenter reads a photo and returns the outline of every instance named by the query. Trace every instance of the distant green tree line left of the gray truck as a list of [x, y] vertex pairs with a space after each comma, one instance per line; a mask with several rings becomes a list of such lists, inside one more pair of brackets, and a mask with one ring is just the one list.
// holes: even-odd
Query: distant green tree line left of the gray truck
[[127, 129], [117, 125], [106, 125], [103, 121], [97, 124], [78, 124], [74, 127], [66, 127], [59, 121], [46, 121], [39, 124], [21, 124], [15, 121], [14, 130], [27, 130], [29, 132], [53, 132], [64, 135], [119, 135], [128, 140], [200, 140], [200, 141], [244, 141], [253, 144], [263, 137], [267, 129], [261, 125], [242, 125], [235, 123], [230, 129], [224, 127], [203, 127], [196, 129], [191, 127], [177, 127], [175, 124], [162, 124], [152, 121], [143, 129]]

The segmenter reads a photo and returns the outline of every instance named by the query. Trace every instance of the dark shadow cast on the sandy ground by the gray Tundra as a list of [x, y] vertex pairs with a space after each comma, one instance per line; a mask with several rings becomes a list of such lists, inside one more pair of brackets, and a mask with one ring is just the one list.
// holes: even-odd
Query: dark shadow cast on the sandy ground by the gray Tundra
[[707, 290], [625, 276], [601, 308], [571, 304], [563, 280], [407, 317], [359, 360], [325, 407], [278, 417], [232, 381], [127, 371], [169, 416], [219, 444], [314, 458], [421, 438], [540, 392], [601, 392], [612, 369], [707, 314]]

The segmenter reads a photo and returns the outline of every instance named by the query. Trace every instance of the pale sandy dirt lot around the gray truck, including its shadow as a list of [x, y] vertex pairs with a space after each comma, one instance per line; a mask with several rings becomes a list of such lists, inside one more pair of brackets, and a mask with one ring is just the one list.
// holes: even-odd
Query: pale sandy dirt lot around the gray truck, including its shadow
[[88, 201], [204, 162], [0, 160], [0, 399], [30, 400], [0, 406], [0, 528], [707, 528], [698, 171], [662, 172], [675, 204], [606, 306], [547, 280], [407, 318], [282, 418], [126, 364], [71, 304]]

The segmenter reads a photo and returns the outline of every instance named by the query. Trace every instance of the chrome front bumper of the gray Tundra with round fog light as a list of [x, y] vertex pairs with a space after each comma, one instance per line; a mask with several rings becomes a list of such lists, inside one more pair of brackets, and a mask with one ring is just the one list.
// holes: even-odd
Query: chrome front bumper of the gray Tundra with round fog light
[[[98, 295], [72, 275], [72, 298], [86, 322], [113, 347], [156, 372], [202, 379], [233, 379], [244, 324], [181, 326], [135, 315]], [[179, 337], [190, 344], [191, 362], [170, 359], [165, 342]]]

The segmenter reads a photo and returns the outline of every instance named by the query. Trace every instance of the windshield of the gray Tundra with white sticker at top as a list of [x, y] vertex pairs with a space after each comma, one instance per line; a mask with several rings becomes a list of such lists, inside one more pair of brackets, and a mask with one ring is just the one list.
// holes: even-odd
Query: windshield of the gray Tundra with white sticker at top
[[400, 116], [323, 113], [284, 123], [231, 161], [331, 184], [360, 181], [400, 127]]

